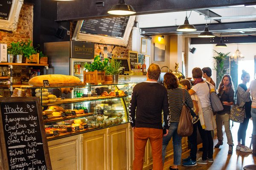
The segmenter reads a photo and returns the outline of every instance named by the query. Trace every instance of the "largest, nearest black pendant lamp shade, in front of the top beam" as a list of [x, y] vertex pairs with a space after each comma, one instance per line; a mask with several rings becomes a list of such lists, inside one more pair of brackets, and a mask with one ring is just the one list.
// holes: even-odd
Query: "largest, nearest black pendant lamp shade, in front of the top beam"
[[119, 0], [118, 4], [111, 6], [108, 10], [108, 14], [113, 15], [131, 15], [135, 13], [136, 11], [132, 6], [125, 4], [125, 0]]

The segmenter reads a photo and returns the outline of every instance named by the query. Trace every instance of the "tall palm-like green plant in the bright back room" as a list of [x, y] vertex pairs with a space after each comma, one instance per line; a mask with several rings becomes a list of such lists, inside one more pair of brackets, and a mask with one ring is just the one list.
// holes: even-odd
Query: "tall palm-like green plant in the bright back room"
[[217, 56], [212, 57], [215, 61], [214, 70], [216, 70], [217, 72], [217, 86], [218, 86], [224, 74], [227, 74], [227, 71], [229, 70], [227, 68], [224, 68], [224, 60], [227, 58], [227, 55], [230, 54], [230, 52], [224, 54], [222, 52], [217, 52], [215, 50], [213, 51], [218, 54]]

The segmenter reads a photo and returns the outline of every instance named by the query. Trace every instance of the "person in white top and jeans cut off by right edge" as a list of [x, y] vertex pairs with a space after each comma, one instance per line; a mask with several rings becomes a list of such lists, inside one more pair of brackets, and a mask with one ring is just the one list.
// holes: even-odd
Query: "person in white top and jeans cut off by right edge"
[[252, 96], [251, 116], [253, 118], [253, 156], [256, 156], [256, 79], [250, 83], [250, 95]]

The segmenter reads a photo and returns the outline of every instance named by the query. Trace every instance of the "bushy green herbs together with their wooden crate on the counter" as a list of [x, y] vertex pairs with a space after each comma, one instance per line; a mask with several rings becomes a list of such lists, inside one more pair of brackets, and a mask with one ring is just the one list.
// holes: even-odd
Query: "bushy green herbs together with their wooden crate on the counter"
[[105, 68], [108, 65], [108, 59], [101, 61], [100, 56], [96, 56], [91, 64], [86, 63], [84, 68], [84, 83], [105, 83]]

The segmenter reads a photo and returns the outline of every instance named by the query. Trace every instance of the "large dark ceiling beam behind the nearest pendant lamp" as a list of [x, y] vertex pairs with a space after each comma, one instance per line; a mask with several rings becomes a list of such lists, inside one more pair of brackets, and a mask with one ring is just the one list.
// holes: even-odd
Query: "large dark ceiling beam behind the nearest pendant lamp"
[[[57, 21], [83, 20], [96, 17], [110, 17], [108, 9], [117, 0], [102, 0], [104, 6], [96, 7], [99, 0], [74, 0], [58, 2]], [[140, 14], [155, 14], [175, 11], [220, 8], [238, 5], [256, 5], [256, 0], [125, 0]]]

